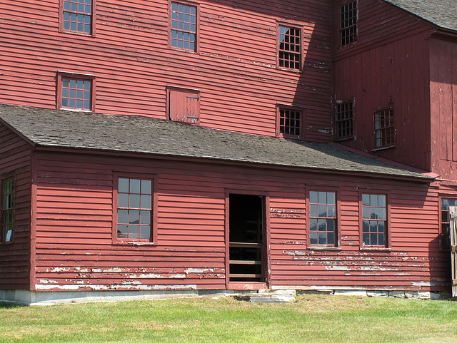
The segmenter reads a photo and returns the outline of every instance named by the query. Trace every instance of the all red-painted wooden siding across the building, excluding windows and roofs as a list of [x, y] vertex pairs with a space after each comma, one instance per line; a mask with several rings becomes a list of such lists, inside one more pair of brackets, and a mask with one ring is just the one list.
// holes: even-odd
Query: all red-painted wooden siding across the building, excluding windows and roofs
[[[166, 0], [97, 1], [94, 36], [59, 31], [58, 1], [34, 4], [36, 11], [26, 2], [0, 2], [2, 102], [55, 108], [58, 73], [87, 73], [96, 76], [97, 112], [166, 118], [167, 87], [189, 88], [200, 91], [201, 126], [274, 136], [283, 104], [306, 108], [306, 140], [327, 142], [334, 92], [334, 100], [355, 99], [355, 139], [342, 144], [371, 153], [373, 110], [393, 103], [396, 148], [375, 153], [451, 179], [429, 185], [394, 176], [40, 150], [2, 126], [0, 173], [16, 170], [17, 210], [14, 242], [0, 244], [0, 289], [450, 289], [438, 217], [439, 196], [457, 195], [450, 86], [456, 71], [447, 73], [456, 47], [430, 39], [431, 24], [383, 1], [359, 0], [358, 42], [332, 50], [330, 0], [199, 1], [199, 48], [189, 53], [168, 48]], [[303, 73], [276, 68], [278, 21], [303, 30]], [[113, 241], [114, 173], [154, 175], [152, 244]], [[310, 189], [338, 194], [334, 249], [308, 245]], [[388, 193], [387, 249], [361, 247], [361, 189]], [[227, 282], [227, 190], [266, 198], [261, 285]]]

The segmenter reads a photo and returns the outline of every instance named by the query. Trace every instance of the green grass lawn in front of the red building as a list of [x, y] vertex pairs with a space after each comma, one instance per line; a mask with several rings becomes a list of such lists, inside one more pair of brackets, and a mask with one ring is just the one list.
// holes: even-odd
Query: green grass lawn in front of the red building
[[0, 342], [457, 342], [457, 302], [305, 295], [20, 307], [0, 302]]

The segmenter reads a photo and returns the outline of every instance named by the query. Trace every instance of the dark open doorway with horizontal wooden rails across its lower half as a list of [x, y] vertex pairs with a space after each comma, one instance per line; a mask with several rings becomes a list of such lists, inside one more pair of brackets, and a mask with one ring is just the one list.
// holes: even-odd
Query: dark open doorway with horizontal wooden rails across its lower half
[[265, 282], [263, 225], [265, 198], [229, 195], [229, 281]]

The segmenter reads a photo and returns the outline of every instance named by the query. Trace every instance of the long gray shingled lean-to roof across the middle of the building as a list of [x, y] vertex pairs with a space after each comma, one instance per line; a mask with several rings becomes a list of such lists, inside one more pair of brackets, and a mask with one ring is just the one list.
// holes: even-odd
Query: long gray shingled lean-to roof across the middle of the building
[[144, 116], [0, 104], [0, 120], [36, 146], [207, 158], [433, 180], [421, 173], [325, 143], [233, 133]]

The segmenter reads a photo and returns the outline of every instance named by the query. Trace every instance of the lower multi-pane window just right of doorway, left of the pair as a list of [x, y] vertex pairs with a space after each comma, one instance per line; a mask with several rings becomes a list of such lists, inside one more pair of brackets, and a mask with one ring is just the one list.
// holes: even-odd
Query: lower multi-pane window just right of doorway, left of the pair
[[336, 244], [336, 193], [309, 192], [309, 239], [311, 245]]

